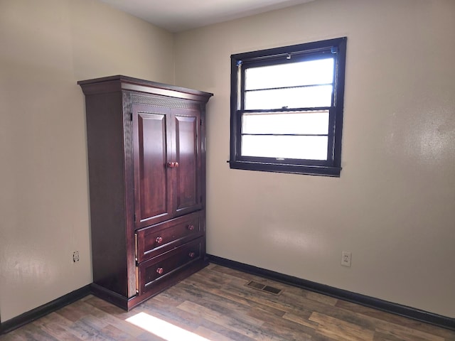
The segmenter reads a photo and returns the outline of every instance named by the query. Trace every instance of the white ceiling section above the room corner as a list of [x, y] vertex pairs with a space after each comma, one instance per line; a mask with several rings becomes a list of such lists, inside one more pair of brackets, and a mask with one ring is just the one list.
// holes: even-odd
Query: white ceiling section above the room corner
[[100, 0], [173, 33], [314, 0]]

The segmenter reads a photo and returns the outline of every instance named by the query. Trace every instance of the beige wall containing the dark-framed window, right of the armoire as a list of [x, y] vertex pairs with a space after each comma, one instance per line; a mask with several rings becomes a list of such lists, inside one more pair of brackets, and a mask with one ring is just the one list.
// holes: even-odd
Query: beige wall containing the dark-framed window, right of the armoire
[[[230, 170], [230, 55], [341, 36], [341, 178]], [[318, 0], [178, 34], [176, 84], [215, 94], [208, 252], [455, 318], [454, 42], [453, 0]]]

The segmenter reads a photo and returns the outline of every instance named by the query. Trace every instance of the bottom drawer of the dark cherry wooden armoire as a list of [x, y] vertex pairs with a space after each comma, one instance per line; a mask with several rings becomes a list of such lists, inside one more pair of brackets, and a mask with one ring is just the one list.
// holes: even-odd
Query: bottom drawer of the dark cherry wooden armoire
[[205, 251], [204, 240], [204, 237], [200, 237], [161, 256], [138, 264], [136, 271], [139, 295], [153, 290], [159, 283], [166, 281], [166, 278], [171, 279], [184, 266], [194, 261], [200, 261]]

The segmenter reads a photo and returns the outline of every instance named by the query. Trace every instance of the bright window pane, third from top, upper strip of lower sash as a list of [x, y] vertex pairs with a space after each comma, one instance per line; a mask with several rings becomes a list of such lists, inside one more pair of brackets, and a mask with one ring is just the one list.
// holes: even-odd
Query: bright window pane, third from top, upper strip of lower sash
[[328, 134], [328, 110], [244, 113], [242, 134]]

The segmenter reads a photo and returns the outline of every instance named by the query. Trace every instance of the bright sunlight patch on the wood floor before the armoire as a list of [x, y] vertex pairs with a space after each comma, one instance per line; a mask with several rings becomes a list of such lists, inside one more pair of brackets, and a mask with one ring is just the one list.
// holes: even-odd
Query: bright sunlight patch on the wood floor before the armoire
[[126, 321], [167, 341], [212, 341], [147, 313], [138, 313]]

